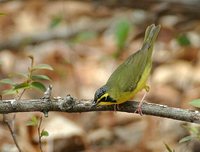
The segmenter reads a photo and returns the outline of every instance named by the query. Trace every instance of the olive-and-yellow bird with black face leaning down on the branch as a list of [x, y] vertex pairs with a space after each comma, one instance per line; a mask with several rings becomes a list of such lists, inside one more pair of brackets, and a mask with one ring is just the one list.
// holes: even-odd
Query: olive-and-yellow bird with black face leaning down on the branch
[[145, 95], [137, 106], [136, 112], [142, 115], [142, 103], [149, 91], [147, 80], [152, 68], [154, 43], [161, 26], [152, 24], [146, 28], [141, 49], [129, 56], [111, 74], [106, 84], [96, 90], [92, 107], [119, 105], [132, 99], [145, 89]]

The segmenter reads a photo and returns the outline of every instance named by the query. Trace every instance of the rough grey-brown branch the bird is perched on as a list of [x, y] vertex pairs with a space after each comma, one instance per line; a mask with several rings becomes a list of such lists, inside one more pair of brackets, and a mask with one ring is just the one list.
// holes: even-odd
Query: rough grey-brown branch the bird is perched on
[[[127, 101], [120, 104], [116, 109], [114, 106], [99, 106], [91, 107], [92, 100], [78, 100], [72, 98], [70, 95], [63, 98], [40, 98], [40, 99], [24, 99], [16, 101], [2, 100], [0, 101], [0, 113], [13, 112], [33, 112], [40, 111], [45, 115], [51, 111], [80, 113], [80, 112], [94, 112], [94, 111], [121, 111], [128, 113], [135, 113], [138, 102]], [[142, 105], [142, 112], [145, 115], [158, 116], [163, 118], [170, 118], [191, 123], [200, 123], [200, 112], [195, 110], [180, 109], [168, 107], [155, 103], [145, 102]]]

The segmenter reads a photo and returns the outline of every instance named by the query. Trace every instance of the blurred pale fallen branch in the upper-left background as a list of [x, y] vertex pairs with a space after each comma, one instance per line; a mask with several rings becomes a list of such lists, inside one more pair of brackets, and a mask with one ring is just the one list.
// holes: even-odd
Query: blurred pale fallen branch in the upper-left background
[[104, 20], [88, 21], [84, 24], [75, 23], [67, 27], [47, 29], [46, 31], [39, 31], [30, 35], [16, 34], [0, 42], [0, 51], [3, 49], [16, 49], [20, 46], [41, 43], [49, 40], [69, 39], [74, 35], [87, 30], [102, 31], [108, 27], [112, 21], [113, 18], [109, 18]]

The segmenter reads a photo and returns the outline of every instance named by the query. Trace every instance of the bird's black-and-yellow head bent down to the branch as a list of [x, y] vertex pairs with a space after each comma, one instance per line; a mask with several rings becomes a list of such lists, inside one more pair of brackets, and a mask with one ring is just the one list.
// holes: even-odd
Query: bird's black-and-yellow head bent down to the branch
[[109, 88], [106, 85], [97, 89], [97, 91], [94, 94], [92, 106], [110, 105], [116, 103], [116, 100], [114, 100], [108, 92]]

